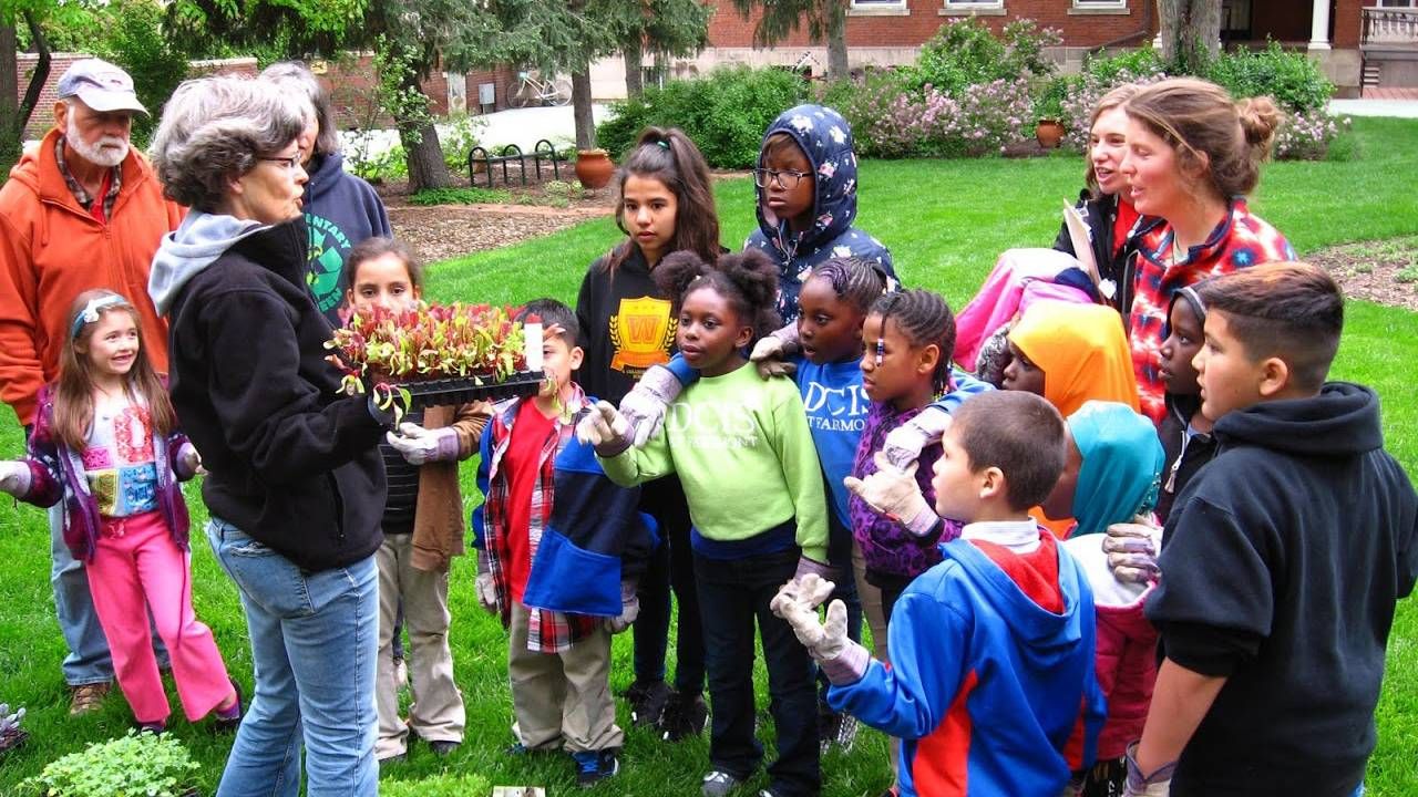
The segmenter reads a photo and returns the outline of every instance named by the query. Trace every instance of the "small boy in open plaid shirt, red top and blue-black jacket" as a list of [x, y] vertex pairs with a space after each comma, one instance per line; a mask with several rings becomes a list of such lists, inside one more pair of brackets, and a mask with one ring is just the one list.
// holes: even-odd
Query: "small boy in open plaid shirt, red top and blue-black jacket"
[[536, 397], [498, 403], [484, 430], [476, 593], [509, 631], [518, 747], [563, 747], [577, 783], [591, 786], [620, 770], [611, 634], [640, 611], [635, 583], [654, 530], [637, 509], [640, 491], [613, 484], [576, 440], [576, 423], [594, 406], [571, 381], [581, 360], [576, 315], [539, 299], [519, 319], [530, 316], [549, 330], [547, 381]]

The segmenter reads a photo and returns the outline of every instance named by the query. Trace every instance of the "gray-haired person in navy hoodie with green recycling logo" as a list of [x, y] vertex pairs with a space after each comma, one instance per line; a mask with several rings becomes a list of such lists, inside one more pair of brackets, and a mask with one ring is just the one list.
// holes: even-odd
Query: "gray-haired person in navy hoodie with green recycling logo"
[[315, 306], [340, 326], [345, 306], [345, 260], [364, 238], [391, 235], [384, 203], [369, 183], [345, 170], [339, 129], [330, 94], [299, 61], [271, 64], [261, 79], [279, 85], [305, 105], [301, 132], [301, 166], [305, 183], [305, 224], [311, 230], [311, 260], [306, 281]]

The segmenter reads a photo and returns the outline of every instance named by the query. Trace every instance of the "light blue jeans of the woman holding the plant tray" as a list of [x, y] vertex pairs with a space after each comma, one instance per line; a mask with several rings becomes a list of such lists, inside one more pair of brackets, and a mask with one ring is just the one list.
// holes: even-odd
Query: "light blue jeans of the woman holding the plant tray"
[[374, 557], [311, 573], [217, 518], [207, 540], [241, 591], [255, 667], [217, 796], [295, 797], [302, 742], [309, 797], [377, 794]]

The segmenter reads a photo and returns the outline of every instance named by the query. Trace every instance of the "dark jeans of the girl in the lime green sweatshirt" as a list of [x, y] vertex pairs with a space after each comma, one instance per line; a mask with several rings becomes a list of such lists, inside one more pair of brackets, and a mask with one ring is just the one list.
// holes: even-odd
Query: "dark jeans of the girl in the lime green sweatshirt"
[[778, 587], [797, 570], [798, 549], [716, 560], [695, 554], [699, 614], [713, 725], [709, 762], [716, 770], [746, 779], [759, 769], [763, 747], [754, 737], [753, 625], [757, 620], [769, 669], [769, 713], [778, 757], [769, 764], [774, 794], [815, 797], [818, 769], [817, 695], [813, 662], [793, 627], [769, 608]]

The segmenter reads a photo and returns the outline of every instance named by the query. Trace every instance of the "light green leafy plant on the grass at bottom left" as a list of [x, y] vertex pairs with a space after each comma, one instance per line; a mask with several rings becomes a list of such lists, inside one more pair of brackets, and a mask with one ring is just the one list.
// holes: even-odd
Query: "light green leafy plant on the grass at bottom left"
[[45, 797], [196, 797], [190, 780], [196, 770], [177, 739], [129, 730], [52, 760], [24, 783]]

